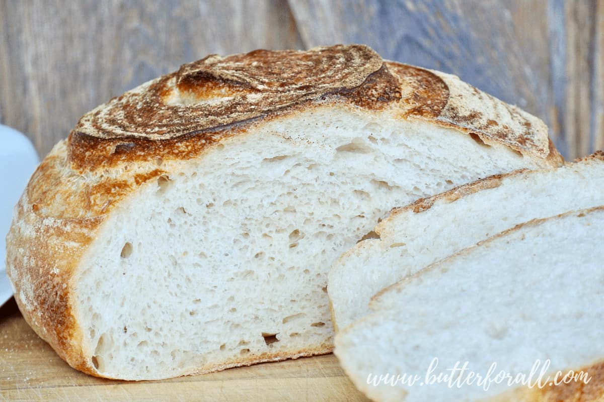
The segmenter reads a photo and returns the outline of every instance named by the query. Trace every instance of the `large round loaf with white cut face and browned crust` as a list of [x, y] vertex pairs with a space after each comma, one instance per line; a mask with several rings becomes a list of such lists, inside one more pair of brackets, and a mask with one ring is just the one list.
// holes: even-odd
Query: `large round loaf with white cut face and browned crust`
[[211, 55], [54, 147], [8, 275], [37, 333], [94, 375], [328, 353], [327, 271], [392, 206], [561, 161], [539, 119], [367, 46]]

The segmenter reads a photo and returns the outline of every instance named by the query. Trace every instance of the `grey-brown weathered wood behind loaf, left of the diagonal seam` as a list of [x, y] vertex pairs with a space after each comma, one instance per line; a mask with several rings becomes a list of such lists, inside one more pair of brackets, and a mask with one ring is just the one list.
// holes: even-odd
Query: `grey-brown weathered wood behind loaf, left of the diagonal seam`
[[44, 155], [83, 113], [182, 63], [302, 46], [285, 0], [2, 0], [0, 122]]

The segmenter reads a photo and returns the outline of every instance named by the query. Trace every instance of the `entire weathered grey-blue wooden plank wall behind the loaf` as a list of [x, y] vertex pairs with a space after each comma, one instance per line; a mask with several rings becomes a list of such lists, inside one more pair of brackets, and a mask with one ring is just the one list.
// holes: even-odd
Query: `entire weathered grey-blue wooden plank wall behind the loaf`
[[0, 0], [0, 122], [41, 155], [101, 102], [210, 53], [367, 43], [604, 148], [604, 0]]

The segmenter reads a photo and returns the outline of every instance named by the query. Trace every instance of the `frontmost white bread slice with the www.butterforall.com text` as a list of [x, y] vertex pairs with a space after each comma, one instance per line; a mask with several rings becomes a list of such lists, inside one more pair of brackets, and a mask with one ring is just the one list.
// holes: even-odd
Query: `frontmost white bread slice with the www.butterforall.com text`
[[[596, 401], [604, 397], [604, 207], [533, 220], [466, 248], [385, 289], [375, 313], [339, 331], [335, 354], [362, 392], [375, 401]], [[460, 384], [425, 382], [465, 362]], [[522, 384], [467, 385], [469, 372], [494, 380], [500, 371], [532, 381], [570, 369], [591, 382], [539, 389]], [[368, 384], [374, 375], [419, 375], [413, 386]], [[383, 377], [382, 377], [383, 378]], [[432, 377], [434, 378], [434, 377]], [[547, 376], [542, 383], [549, 385]], [[559, 378], [562, 378], [559, 377]], [[520, 379], [520, 378], [519, 378]], [[553, 377], [551, 377], [553, 380]]]

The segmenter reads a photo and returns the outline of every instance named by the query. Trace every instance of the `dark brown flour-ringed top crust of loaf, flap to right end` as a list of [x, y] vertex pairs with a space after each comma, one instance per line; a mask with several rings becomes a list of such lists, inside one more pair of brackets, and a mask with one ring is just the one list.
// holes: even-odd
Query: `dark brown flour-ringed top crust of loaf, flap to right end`
[[382, 60], [365, 45], [255, 50], [183, 64], [86, 113], [69, 139], [69, 160], [95, 170], [129, 155], [137, 162], [188, 159], [225, 133], [336, 103], [422, 119], [561, 163], [540, 119], [454, 75]]

